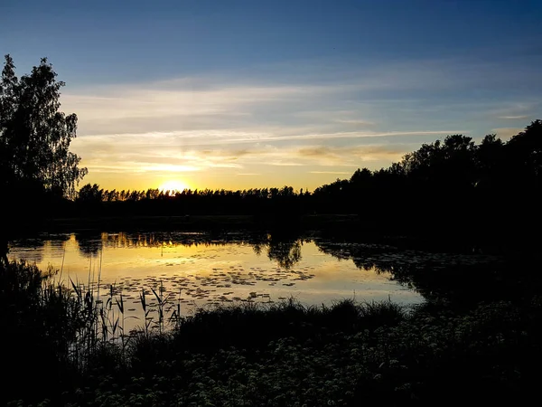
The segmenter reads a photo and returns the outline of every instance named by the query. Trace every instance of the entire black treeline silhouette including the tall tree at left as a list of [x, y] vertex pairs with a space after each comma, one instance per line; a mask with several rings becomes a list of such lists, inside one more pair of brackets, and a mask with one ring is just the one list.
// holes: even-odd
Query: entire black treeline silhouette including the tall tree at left
[[63, 82], [43, 59], [17, 77], [5, 56], [0, 80], [0, 202], [5, 241], [47, 218], [131, 215], [257, 215], [290, 224], [304, 214], [360, 215], [363, 230], [528, 235], [541, 226], [542, 121], [504, 142], [489, 135], [476, 144], [453, 135], [424, 144], [378, 171], [359, 169], [350, 179], [313, 193], [282, 188], [186, 190], [167, 193], [107, 191], [76, 185], [87, 174], [70, 152], [77, 117], [60, 110]]

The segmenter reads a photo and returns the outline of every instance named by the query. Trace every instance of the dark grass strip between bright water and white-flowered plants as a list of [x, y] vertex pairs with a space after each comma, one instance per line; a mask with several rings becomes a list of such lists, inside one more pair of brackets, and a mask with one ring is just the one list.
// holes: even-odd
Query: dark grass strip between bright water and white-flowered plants
[[251, 349], [279, 337], [318, 340], [322, 332], [351, 334], [392, 327], [406, 316], [406, 308], [389, 300], [342, 299], [320, 307], [304, 305], [295, 298], [276, 303], [242, 302], [197, 309], [178, 321], [173, 337], [180, 348], [197, 352], [232, 345]]

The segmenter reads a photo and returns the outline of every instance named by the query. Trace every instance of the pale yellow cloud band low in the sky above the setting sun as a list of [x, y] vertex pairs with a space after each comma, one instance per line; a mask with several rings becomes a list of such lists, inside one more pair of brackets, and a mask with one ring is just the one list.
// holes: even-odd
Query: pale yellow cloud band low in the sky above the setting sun
[[[378, 137], [371, 139], [378, 140]], [[373, 161], [390, 163], [412, 150], [412, 147], [378, 144], [344, 147], [283, 146], [253, 143], [243, 148], [222, 144], [214, 149], [209, 148], [209, 143], [204, 143], [203, 146], [179, 145], [170, 135], [111, 135], [77, 138], [74, 140], [73, 150], [83, 156], [82, 165], [87, 166], [91, 173], [179, 174], [244, 168], [246, 171], [237, 171], [235, 174], [260, 174], [258, 168], [262, 166], [338, 168], [355, 167], [360, 166], [360, 163]], [[332, 169], [326, 168], [325, 171]]]

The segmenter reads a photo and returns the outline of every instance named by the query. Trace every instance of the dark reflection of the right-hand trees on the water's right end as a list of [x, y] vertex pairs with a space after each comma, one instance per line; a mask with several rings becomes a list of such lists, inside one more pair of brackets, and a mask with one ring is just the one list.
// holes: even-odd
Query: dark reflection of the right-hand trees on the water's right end
[[[479, 301], [528, 298], [541, 276], [532, 259], [472, 253], [398, 250], [386, 245], [316, 241], [323, 253], [352, 260], [360, 270], [389, 275], [429, 300], [462, 306]], [[535, 265], [537, 264], [537, 265]]]

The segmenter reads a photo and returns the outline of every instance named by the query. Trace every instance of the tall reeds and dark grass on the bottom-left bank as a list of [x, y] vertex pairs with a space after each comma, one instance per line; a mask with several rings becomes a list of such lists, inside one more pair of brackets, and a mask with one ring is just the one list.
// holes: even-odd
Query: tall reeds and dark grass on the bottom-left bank
[[[101, 261], [100, 261], [101, 263]], [[98, 284], [93, 277], [81, 283], [70, 279], [69, 286], [57, 279], [56, 270], [42, 272], [35, 265], [12, 261], [0, 265], [0, 321], [3, 334], [0, 346], [13, 363], [8, 363], [6, 392], [0, 392], [0, 404], [10, 394], [25, 392], [28, 378], [33, 387], [44, 390], [49, 385], [70, 383], [80, 374], [114, 355], [115, 364], [126, 364], [131, 338], [125, 331], [126, 304], [122, 289], [114, 284], [101, 287], [101, 264]], [[89, 273], [90, 273], [89, 269]], [[154, 296], [158, 317], [150, 317], [151, 307], [142, 291], [147, 335], [162, 334], [177, 325], [180, 304], [171, 317], [165, 315], [169, 296], [164, 286]], [[32, 366], [32, 367], [30, 367]], [[52, 371], [52, 374], [51, 374]], [[36, 393], [40, 393], [37, 391]]]

